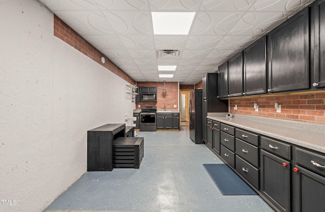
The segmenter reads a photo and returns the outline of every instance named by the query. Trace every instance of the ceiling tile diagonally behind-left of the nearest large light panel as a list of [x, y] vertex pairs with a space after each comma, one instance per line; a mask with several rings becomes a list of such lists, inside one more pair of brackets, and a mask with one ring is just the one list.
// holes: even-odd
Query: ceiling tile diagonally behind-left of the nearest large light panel
[[127, 49], [154, 49], [152, 36], [118, 36]]

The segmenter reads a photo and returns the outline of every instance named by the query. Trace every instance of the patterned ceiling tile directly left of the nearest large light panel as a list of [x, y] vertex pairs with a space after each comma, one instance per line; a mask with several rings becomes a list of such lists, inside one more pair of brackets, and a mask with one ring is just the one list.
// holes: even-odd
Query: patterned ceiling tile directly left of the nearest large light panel
[[103, 11], [116, 34], [150, 34], [152, 32], [149, 12]]

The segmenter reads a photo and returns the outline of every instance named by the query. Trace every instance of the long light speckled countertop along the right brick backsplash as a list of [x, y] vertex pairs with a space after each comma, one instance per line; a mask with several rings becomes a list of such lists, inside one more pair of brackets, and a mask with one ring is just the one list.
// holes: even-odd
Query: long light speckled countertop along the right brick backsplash
[[325, 125], [240, 114], [228, 118], [208, 113], [207, 118], [325, 153]]

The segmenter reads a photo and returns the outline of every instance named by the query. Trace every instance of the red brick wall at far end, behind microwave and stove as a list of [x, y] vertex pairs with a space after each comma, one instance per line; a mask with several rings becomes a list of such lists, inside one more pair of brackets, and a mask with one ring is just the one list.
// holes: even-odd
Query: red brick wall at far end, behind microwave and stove
[[[157, 106], [157, 110], [163, 110], [164, 104], [166, 110], [178, 109], [178, 83], [165, 82], [167, 93], [163, 94], [164, 82], [137, 82], [138, 87], [157, 87], [157, 102], [136, 102], [136, 109], [142, 106]], [[174, 105], [176, 104], [176, 108]]]

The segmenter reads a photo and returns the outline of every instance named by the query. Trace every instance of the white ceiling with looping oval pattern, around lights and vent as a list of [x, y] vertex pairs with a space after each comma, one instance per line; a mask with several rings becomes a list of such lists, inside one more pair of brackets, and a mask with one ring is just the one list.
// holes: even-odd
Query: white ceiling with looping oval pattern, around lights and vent
[[[39, 0], [138, 82], [196, 84], [314, 0]], [[154, 35], [151, 12], [196, 12], [188, 35]], [[157, 57], [158, 50], [179, 56]], [[177, 65], [158, 78], [157, 65]]]

